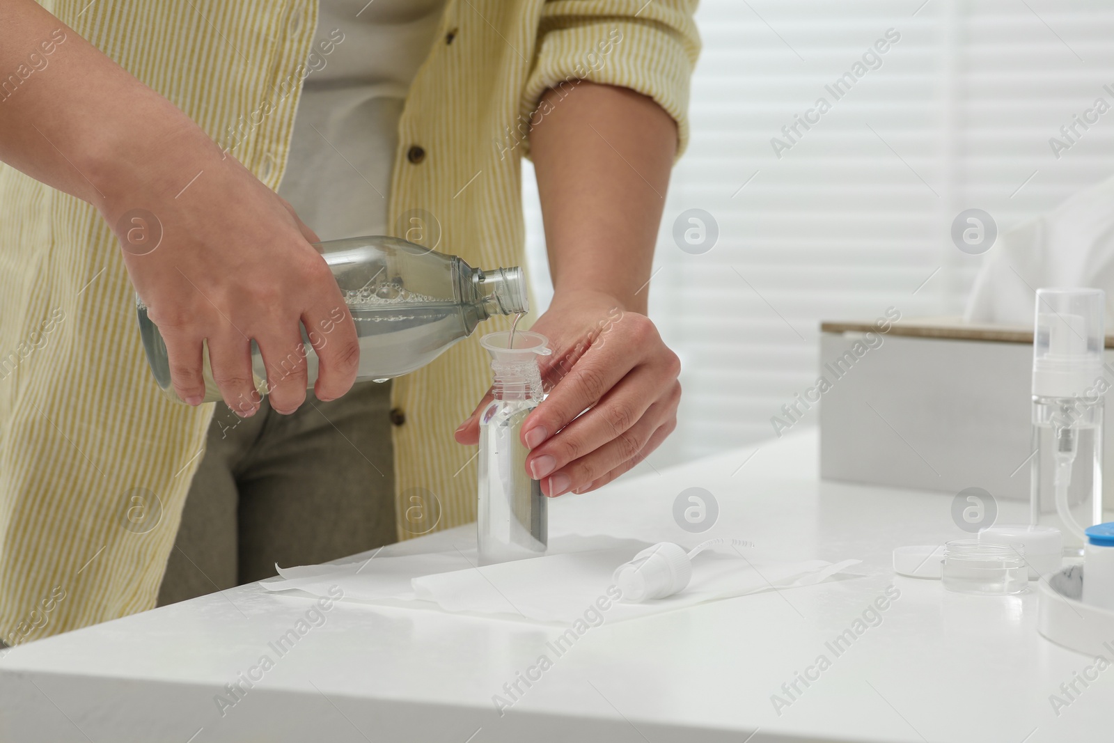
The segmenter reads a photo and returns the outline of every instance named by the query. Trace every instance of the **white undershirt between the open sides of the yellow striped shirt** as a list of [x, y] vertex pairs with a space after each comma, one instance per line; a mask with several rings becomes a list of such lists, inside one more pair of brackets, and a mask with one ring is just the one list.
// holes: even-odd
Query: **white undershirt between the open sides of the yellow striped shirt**
[[321, 239], [389, 232], [399, 117], [444, 2], [320, 0], [278, 195]]

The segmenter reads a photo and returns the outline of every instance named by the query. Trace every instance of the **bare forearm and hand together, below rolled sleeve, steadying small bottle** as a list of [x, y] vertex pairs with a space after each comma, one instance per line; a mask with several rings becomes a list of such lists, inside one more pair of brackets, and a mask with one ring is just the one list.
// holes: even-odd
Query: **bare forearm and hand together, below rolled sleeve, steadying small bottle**
[[[554, 301], [531, 330], [549, 397], [522, 423], [527, 473], [547, 496], [587, 492], [641, 462], [676, 428], [681, 362], [645, 313], [673, 118], [627, 88], [549, 90], [530, 128]], [[550, 389], [551, 388], [551, 389]], [[479, 439], [477, 412], [457, 431]]]

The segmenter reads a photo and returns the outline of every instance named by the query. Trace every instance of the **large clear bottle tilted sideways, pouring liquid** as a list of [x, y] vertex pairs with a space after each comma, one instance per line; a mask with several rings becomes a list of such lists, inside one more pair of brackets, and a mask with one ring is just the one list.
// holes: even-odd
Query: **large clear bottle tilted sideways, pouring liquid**
[[[385, 382], [424, 366], [457, 341], [467, 338], [482, 320], [495, 314], [515, 314], [529, 307], [522, 270], [472, 268], [455, 255], [387, 236], [351, 237], [316, 243], [340, 285], [341, 295], [360, 341], [360, 366], [356, 381]], [[158, 326], [147, 316], [147, 306], [136, 297], [139, 334], [147, 352], [155, 381], [173, 400], [180, 402], [170, 384], [166, 345]], [[339, 310], [339, 309], [338, 309]], [[332, 321], [340, 312], [334, 312]], [[310, 329], [315, 340], [329, 342], [333, 325]], [[302, 329], [309, 387], [317, 379], [317, 356]], [[267, 369], [255, 342], [252, 342], [252, 369], [255, 385], [266, 392], [266, 381], [289, 373], [299, 361], [296, 353], [272, 361]], [[221, 400], [204, 358], [205, 402]]]

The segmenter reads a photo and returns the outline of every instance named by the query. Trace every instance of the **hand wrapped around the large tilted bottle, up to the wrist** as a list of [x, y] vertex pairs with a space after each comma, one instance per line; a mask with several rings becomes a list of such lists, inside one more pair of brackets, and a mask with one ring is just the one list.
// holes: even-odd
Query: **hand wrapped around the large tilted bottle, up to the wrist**
[[344, 394], [355, 380], [360, 348], [336, 282], [310, 245], [316, 235], [199, 129], [187, 127], [172, 143], [154, 162], [116, 159], [100, 178], [106, 198], [99, 208], [166, 342], [178, 397], [197, 404], [205, 393], [205, 341], [225, 402], [241, 416], [254, 414], [254, 340], [271, 405], [293, 412], [306, 389], [300, 323], [320, 359], [316, 397]]

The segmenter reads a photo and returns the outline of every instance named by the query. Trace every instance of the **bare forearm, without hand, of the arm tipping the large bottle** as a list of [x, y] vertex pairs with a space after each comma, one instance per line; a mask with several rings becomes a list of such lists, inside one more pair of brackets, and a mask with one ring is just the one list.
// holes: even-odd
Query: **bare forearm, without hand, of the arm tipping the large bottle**
[[173, 178], [169, 158], [152, 158], [168, 139], [204, 136], [32, 0], [0, 3], [0, 160], [106, 213], [120, 173]]

